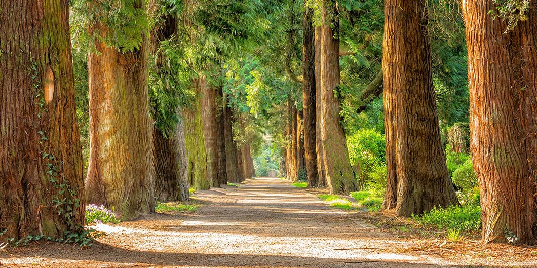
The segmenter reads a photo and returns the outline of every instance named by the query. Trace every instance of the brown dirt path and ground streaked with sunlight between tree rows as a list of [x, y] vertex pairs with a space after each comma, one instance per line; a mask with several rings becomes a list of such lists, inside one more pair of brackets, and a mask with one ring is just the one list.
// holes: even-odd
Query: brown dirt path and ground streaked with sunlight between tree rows
[[537, 267], [537, 248], [445, 243], [386, 227], [380, 214], [330, 207], [321, 192], [276, 178], [198, 191], [195, 213], [98, 224], [92, 228], [107, 235], [83, 250], [52, 242], [9, 248], [0, 267]]

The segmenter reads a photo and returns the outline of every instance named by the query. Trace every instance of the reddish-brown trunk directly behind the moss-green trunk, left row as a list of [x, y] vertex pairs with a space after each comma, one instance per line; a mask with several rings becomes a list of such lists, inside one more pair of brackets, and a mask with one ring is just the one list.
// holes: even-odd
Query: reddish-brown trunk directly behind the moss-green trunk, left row
[[218, 178], [218, 149], [216, 144], [216, 102], [213, 86], [207, 85], [205, 76], [200, 78], [201, 115], [207, 151], [207, 176], [211, 186], [220, 187]]

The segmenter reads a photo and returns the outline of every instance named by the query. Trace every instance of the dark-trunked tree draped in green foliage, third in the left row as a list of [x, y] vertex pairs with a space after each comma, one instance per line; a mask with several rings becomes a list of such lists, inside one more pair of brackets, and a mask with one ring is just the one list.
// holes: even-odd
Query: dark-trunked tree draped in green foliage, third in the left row
[[[157, 200], [188, 200], [188, 155], [185, 147], [185, 126], [179, 120], [182, 106], [182, 86], [176, 77], [180, 71], [177, 62], [177, 14], [173, 6], [162, 2], [150, 3], [157, 16], [151, 34], [150, 106], [153, 110], [153, 145], [155, 166], [155, 197]], [[160, 13], [158, 13], [160, 12]]]

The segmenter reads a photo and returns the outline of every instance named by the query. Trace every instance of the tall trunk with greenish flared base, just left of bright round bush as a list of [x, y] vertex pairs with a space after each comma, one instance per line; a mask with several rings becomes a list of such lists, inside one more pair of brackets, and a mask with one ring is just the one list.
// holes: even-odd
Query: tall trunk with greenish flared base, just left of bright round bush
[[[342, 120], [340, 101], [335, 96], [339, 86], [338, 15], [334, 0], [322, 1], [321, 36], [321, 140], [326, 184], [331, 193], [356, 191], [356, 171], [349, 161], [349, 151]], [[333, 28], [332, 28], [332, 27]]]

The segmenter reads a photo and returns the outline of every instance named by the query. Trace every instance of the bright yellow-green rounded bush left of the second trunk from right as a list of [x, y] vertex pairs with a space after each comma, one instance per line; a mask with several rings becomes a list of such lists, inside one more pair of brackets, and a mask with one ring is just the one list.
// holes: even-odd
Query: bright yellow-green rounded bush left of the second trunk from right
[[384, 135], [373, 129], [360, 129], [347, 138], [351, 164], [359, 168], [360, 187], [371, 180], [375, 166], [386, 162], [385, 142]]

